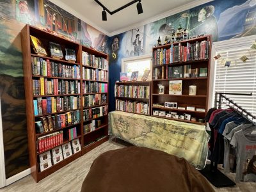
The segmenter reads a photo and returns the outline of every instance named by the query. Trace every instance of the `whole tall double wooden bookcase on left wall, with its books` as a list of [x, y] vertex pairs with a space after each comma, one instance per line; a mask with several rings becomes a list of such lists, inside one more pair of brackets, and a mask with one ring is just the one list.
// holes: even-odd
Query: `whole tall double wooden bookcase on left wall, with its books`
[[[29, 161], [38, 182], [108, 140], [108, 55], [29, 25], [21, 38]], [[83, 63], [82, 51], [95, 58]], [[84, 120], [84, 110], [92, 118]], [[84, 124], [98, 118], [100, 131], [84, 136]], [[94, 146], [84, 148], [88, 141]], [[62, 155], [53, 159], [56, 148]], [[51, 163], [41, 159], [49, 154]]]

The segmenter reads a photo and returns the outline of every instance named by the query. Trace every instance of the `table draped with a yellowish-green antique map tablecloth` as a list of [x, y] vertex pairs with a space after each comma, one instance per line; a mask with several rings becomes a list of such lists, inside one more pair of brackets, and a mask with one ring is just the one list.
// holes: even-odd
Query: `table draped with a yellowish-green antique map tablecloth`
[[209, 134], [204, 125], [112, 111], [109, 135], [136, 146], [184, 157], [199, 170], [204, 168], [207, 159]]

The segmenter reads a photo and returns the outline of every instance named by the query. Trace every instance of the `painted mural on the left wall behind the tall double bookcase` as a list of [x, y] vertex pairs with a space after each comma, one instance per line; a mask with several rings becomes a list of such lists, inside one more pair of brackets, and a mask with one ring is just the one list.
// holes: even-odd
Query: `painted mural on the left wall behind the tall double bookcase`
[[6, 178], [29, 168], [20, 30], [25, 24], [107, 52], [108, 36], [47, 0], [0, 0], [0, 98]]

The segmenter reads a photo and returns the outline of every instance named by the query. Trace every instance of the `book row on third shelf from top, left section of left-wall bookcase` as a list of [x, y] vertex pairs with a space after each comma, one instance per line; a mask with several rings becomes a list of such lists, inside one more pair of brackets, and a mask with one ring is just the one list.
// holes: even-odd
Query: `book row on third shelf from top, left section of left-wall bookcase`
[[33, 79], [34, 95], [58, 95], [58, 94], [79, 94], [80, 82], [67, 81], [64, 79]]

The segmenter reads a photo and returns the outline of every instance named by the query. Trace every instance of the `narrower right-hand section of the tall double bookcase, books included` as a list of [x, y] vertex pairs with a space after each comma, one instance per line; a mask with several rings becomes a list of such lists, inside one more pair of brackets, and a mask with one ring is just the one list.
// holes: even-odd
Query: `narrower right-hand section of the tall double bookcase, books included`
[[[84, 111], [92, 112], [97, 109], [102, 111], [97, 116], [86, 118], [84, 115], [84, 154], [108, 140], [108, 54], [82, 46], [81, 63], [83, 115]], [[97, 63], [97, 65], [93, 65], [93, 63]]]

